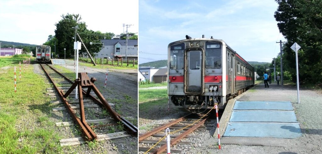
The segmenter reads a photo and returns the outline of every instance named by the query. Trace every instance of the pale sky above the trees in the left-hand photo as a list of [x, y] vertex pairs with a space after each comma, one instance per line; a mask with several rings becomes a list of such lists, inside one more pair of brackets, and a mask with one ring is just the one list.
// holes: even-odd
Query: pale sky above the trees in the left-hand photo
[[[80, 14], [87, 29], [138, 32], [138, 0], [1, 0], [0, 40], [40, 45], [55, 35], [62, 14]], [[125, 27], [126, 31], [126, 27]]]

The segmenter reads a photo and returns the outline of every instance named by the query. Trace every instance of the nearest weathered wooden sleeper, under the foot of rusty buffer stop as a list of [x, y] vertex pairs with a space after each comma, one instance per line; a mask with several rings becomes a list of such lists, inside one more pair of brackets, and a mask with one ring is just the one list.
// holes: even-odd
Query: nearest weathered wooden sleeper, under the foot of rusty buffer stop
[[[131, 135], [126, 134], [126, 133], [127, 133], [126, 131], [121, 131], [121, 132], [97, 135], [96, 140], [97, 141], [111, 140], [111, 139], [117, 139], [117, 138], [131, 136]], [[85, 140], [83, 140], [82, 137], [60, 140], [60, 145], [61, 146], [75, 146], [75, 145], [81, 145], [81, 144], [84, 144], [84, 143], [85, 143]]]

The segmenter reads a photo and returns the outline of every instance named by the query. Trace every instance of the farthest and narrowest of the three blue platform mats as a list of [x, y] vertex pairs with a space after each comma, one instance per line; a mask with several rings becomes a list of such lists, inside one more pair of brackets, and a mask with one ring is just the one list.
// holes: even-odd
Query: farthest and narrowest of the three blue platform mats
[[234, 110], [293, 110], [291, 102], [236, 101]]

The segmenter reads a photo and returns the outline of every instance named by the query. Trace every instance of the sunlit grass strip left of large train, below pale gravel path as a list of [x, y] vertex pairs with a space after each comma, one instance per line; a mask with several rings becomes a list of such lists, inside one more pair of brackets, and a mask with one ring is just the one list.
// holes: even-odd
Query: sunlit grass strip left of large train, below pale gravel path
[[149, 100], [167, 98], [167, 89], [139, 89], [139, 103], [147, 102]]

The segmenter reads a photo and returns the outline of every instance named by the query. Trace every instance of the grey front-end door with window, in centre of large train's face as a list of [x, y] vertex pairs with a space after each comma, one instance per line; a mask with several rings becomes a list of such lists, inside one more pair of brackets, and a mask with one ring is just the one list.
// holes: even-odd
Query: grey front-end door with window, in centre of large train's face
[[187, 92], [202, 92], [202, 55], [200, 50], [188, 51], [187, 65]]

